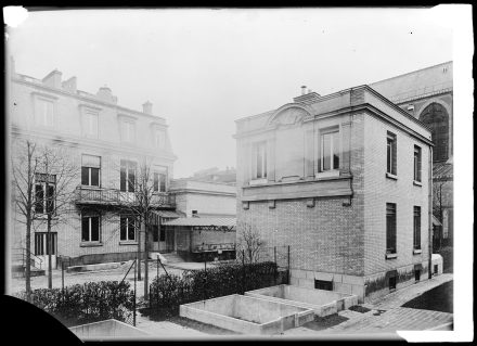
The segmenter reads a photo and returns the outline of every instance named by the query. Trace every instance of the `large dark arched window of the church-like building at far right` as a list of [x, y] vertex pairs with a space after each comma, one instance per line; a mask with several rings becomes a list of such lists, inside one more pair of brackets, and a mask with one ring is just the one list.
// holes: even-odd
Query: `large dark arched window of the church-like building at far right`
[[442, 162], [449, 158], [449, 115], [446, 108], [438, 104], [429, 104], [420, 120], [427, 125], [433, 132], [434, 162]]

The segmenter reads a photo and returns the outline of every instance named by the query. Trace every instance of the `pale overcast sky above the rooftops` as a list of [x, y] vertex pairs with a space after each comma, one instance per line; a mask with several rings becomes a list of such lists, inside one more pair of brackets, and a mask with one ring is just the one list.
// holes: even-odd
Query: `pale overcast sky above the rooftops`
[[[443, 24], [442, 24], [443, 23]], [[442, 26], [444, 25], [444, 26]], [[235, 166], [234, 120], [453, 60], [430, 9], [81, 10], [30, 12], [9, 31], [16, 72], [52, 69], [167, 119], [175, 178]]]

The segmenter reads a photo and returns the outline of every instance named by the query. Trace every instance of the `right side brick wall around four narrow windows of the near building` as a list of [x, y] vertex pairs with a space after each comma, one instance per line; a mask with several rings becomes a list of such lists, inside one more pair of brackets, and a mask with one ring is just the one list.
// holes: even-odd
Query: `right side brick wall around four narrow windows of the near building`
[[[372, 116], [364, 126], [365, 274], [374, 274], [428, 258], [429, 148]], [[397, 180], [386, 177], [386, 138], [397, 136]], [[422, 187], [413, 184], [414, 144], [422, 148]], [[397, 258], [386, 259], [386, 203], [397, 208]], [[413, 206], [421, 206], [422, 254], [413, 255]]]

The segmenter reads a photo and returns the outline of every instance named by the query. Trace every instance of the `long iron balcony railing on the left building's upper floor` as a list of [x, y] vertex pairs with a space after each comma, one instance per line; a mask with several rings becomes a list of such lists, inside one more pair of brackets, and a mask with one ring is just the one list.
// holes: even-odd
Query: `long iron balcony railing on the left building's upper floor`
[[[138, 195], [133, 192], [90, 187], [76, 188], [75, 203], [78, 205], [104, 205], [118, 207], [139, 205]], [[150, 204], [152, 207], [157, 208], [175, 208], [176, 195], [165, 192], [154, 192]]]

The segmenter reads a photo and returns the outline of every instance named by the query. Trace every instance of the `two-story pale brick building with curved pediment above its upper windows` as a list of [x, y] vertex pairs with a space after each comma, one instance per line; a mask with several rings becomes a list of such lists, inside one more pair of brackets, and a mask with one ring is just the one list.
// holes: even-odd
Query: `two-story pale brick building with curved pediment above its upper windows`
[[237, 233], [291, 245], [291, 283], [361, 300], [428, 278], [431, 133], [368, 86], [236, 120]]

